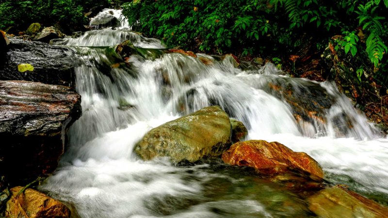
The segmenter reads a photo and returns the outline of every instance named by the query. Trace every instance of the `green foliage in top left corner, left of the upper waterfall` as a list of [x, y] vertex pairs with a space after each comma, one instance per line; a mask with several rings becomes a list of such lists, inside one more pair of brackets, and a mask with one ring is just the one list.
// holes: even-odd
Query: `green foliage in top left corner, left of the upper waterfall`
[[4, 0], [0, 3], [0, 29], [16, 26], [25, 30], [32, 22], [71, 27], [87, 23], [84, 10], [108, 5], [108, 0]]

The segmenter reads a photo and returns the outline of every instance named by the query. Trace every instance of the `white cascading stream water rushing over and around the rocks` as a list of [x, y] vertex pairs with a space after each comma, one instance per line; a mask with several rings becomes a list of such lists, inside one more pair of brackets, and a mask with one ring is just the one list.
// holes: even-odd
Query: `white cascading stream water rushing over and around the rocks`
[[60, 168], [40, 188], [72, 205], [75, 217], [311, 216], [284, 186], [249, 172], [219, 163], [176, 167], [132, 153], [151, 128], [210, 105], [241, 120], [248, 139], [306, 152], [328, 181], [388, 202], [388, 140], [378, 139], [335, 85], [282, 76], [272, 64], [242, 71], [229, 56], [132, 55], [129, 64], [117, 64], [113, 46], [124, 40], [163, 48], [123, 27], [57, 42], [72, 50], [83, 115], [69, 131]]

